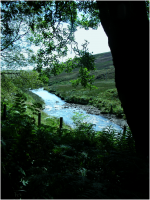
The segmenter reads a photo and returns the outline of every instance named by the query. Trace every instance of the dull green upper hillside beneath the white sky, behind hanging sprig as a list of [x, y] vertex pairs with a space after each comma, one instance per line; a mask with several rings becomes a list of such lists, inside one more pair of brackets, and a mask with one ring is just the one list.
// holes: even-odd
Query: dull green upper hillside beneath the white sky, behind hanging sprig
[[[114, 79], [115, 69], [111, 52], [99, 53], [93, 56], [95, 57], [96, 70], [92, 71], [90, 74], [95, 75], [96, 80]], [[51, 77], [49, 83], [51, 85], [77, 79], [78, 71], [79, 69], [74, 69], [71, 73], [63, 72], [56, 77]]]

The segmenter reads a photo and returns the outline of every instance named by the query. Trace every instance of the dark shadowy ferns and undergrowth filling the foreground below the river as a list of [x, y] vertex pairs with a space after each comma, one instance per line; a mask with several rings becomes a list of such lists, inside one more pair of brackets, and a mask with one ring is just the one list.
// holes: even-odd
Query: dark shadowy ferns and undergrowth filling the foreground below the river
[[95, 132], [79, 115], [74, 130], [37, 127], [24, 101], [16, 95], [20, 112], [2, 120], [2, 198], [148, 198], [148, 162], [129, 129]]

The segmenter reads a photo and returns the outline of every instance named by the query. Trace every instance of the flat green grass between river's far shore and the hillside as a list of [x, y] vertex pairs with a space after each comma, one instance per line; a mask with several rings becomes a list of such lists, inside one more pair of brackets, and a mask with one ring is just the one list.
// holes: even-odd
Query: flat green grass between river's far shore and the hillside
[[46, 86], [44, 89], [56, 94], [68, 103], [93, 105], [100, 109], [101, 113], [111, 113], [119, 118], [126, 119], [121, 107], [114, 79], [97, 80], [94, 85], [97, 89], [89, 90], [81, 86], [73, 88], [71, 83], [57, 83]]

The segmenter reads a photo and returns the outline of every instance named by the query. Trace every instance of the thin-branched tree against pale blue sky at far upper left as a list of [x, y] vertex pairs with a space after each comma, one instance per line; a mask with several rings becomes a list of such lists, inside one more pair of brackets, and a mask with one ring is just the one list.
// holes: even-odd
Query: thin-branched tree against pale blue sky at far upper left
[[2, 69], [16, 69], [33, 64], [33, 51], [27, 46], [32, 18], [33, 16], [25, 15], [23, 3], [1, 3]]

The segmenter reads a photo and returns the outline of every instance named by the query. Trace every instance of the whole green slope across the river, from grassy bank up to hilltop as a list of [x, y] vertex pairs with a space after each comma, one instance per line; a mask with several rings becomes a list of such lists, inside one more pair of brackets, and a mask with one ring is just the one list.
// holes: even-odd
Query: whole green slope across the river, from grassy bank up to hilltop
[[118, 98], [115, 86], [115, 69], [110, 52], [94, 55], [96, 70], [90, 72], [95, 76], [93, 85], [97, 89], [85, 89], [82, 86], [72, 87], [71, 80], [78, 78], [79, 69], [70, 73], [63, 72], [58, 76], [51, 76], [49, 86], [45, 90], [56, 94], [68, 103], [93, 105], [101, 110], [102, 114], [112, 113], [119, 118], [126, 119]]

